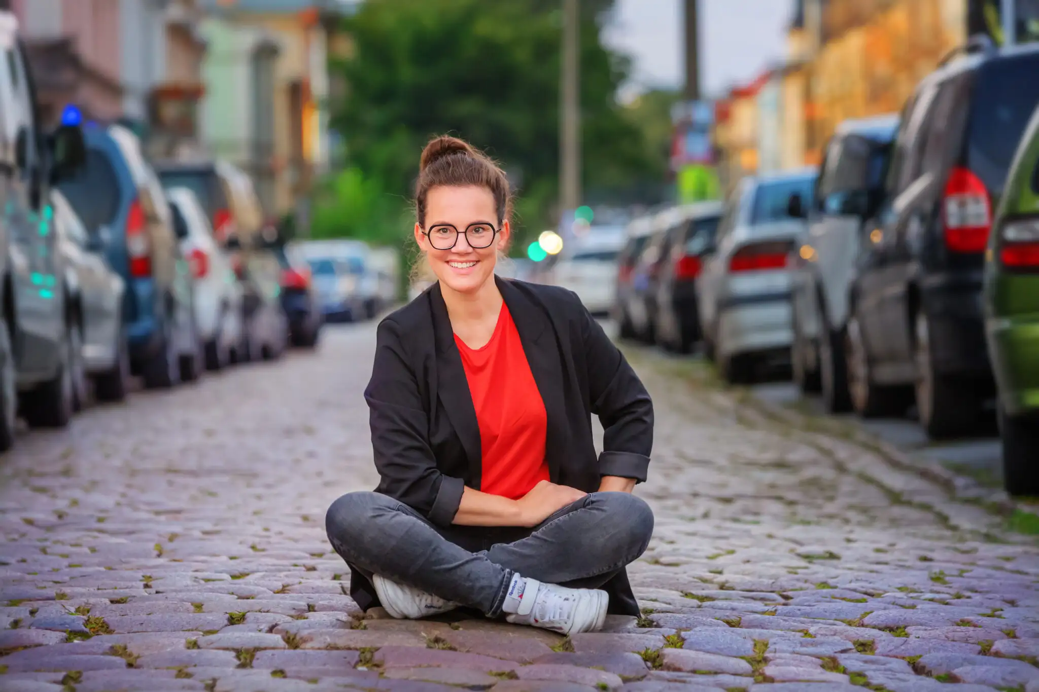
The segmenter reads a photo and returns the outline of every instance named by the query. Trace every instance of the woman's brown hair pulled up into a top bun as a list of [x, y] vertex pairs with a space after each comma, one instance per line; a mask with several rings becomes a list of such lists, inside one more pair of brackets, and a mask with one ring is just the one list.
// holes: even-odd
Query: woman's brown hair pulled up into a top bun
[[419, 182], [415, 190], [415, 215], [419, 225], [426, 225], [426, 196], [438, 187], [485, 188], [495, 197], [498, 223], [512, 212], [509, 181], [498, 164], [456, 137], [434, 137], [422, 150]]

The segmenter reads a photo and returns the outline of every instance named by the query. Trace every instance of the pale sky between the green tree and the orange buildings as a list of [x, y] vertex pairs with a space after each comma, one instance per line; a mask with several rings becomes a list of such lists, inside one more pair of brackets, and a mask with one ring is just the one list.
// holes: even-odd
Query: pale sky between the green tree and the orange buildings
[[[685, 81], [682, 0], [616, 0], [606, 31], [612, 47], [634, 58], [628, 100], [649, 87]], [[699, 0], [700, 89], [719, 95], [783, 58], [793, 0]]]

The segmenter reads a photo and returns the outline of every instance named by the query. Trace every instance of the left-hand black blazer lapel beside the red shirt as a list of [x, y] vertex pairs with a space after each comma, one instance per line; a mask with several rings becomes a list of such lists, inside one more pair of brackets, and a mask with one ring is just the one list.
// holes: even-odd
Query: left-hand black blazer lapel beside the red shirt
[[483, 459], [480, 452], [480, 426], [476, 422], [476, 409], [465, 380], [465, 369], [461, 365], [461, 355], [454, 340], [448, 308], [444, 304], [439, 283], [429, 292], [433, 314], [433, 332], [436, 339], [436, 395], [444, 405], [451, 425], [454, 427], [469, 462], [469, 477], [465, 485], [480, 490]]

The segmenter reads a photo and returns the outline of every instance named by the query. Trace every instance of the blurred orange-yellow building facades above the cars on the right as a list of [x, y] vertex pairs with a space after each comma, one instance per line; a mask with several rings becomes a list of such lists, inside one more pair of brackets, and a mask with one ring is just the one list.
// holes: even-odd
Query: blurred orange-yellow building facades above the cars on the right
[[[1039, 2], [1016, 3], [1017, 41], [1039, 40]], [[785, 64], [718, 102], [723, 185], [731, 189], [741, 176], [777, 165], [818, 165], [842, 120], [901, 111], [917, 82], [969, 36], [985, 33], [1002, 43], [1000, 4], [795, 0]], [[741, 119], [751, 111], [756, 129]]]

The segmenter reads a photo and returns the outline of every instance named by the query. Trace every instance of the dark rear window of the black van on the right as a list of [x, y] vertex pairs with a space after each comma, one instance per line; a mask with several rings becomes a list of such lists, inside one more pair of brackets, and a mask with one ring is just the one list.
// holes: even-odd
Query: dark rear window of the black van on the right
[[1039, 104], [1039, 55], [995, 60], [979, 72], [971, 99], [967, 167], [1003, 193], [1021, 134]]

